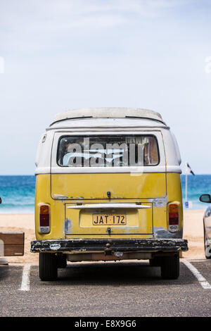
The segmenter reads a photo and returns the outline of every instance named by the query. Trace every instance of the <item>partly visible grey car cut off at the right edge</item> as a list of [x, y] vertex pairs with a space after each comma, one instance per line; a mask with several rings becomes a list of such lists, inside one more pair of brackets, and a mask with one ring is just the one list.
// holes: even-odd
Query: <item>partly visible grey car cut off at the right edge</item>
[[[211, 204], [210, 194], [202, 194], [199, 198], [201, 202]], [[205, 210], [203, 217], [204, 227], [204, 245], [205, 245], [205, 256], [211, 258], [211, 206]]]

